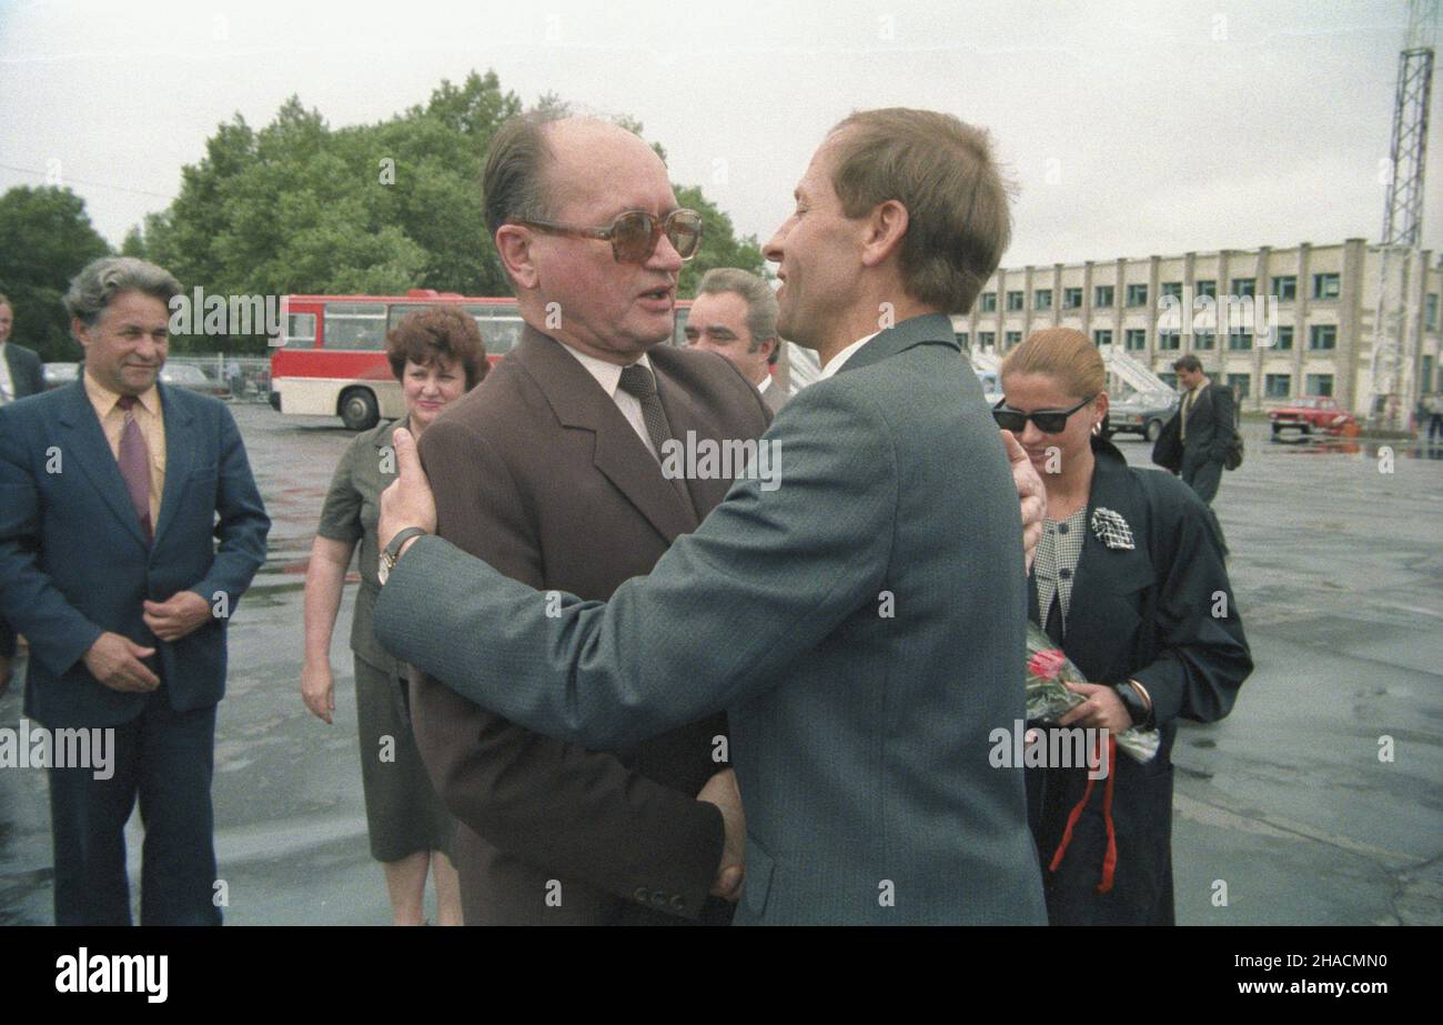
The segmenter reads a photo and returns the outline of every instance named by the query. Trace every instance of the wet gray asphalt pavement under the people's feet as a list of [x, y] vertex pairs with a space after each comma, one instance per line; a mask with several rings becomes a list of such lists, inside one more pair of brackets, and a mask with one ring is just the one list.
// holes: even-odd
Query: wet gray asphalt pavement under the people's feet
[[[231, 622], [216, 728], [227, 922], [385, 924], [346, 645], [355, 586], [332, 642], [333, 726], [304, 709], [299, 683], [306, 556], [351, 435], [232, 409], [273, 527]], [[1377, 442], [1266, 433], [1245, 426], [1247, 462], [1214, 504], [1257, 670], [1229, 719], [1185, 723], [1177, 738], [1177, 920], [1443, 924], [1443, 446], [1392, 442], [1392, 472], [1380, 472]], [[1118, 446], [1147, 465], [1149, 445]], [[0, 726], [17, 726], [20, 697], [17, 679]], [[1384, 736], [1391, 762], [1378, 756]], [[139, 816], [127, 836], [136, 885]], [[45, 772], [0, 769], [0, 924], [51, 921]]]

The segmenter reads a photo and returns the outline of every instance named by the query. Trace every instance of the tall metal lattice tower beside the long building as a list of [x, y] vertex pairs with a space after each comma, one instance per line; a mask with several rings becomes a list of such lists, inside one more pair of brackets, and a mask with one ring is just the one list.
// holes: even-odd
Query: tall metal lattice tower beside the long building
[[1439, 0], [1410, 0], [1408, 36], [1398, 55], [1392, 105], [1392, 180], [1378, 244], [1378, 309], [1374, 316], [1372, 396], [1368, 414], [1380, 427], [1407, 423], [1418, 359], [1423, 302], [1423, 170], [1433, 97], [1433, 40]]

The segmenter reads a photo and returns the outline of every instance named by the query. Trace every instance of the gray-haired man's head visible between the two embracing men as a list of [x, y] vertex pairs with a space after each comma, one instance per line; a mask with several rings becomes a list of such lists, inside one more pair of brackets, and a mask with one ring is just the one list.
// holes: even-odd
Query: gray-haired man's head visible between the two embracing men
[[791, 398], [772, 378], [782, 339], [776, 336], [772, 286], [740, 267], [713, 267], [697, 286], [687, 315], [687, 344], [726, 357], [762, 393], [772, 413]]

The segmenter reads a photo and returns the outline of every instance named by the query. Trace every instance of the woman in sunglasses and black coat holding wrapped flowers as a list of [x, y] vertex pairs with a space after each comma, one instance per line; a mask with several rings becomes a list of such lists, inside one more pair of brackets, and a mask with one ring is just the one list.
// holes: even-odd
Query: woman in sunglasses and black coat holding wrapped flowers
[[1100, 739], [1105, 780], [1029, 768], [1027, 807], [1051, 924], [1172, 925], [1177, 719], [1225, 716], [1253, 660], [1212, 517], [1190, 488], [1128, 466], [1101, 437], [1105, 387], [1088, 338], [1049, 328], [1003, 361], [993, 416], [1048, 488], [1029, 614], [1089, 680], [1071, 686], [1087, 700], [1059, 726], [1107, 730], [1098, 738], [1156, 728], [1162, 743], [1140, 764]]

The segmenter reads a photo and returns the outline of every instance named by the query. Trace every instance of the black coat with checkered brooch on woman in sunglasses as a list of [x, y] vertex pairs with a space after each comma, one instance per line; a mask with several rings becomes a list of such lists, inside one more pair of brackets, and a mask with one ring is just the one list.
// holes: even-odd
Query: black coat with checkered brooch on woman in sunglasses
[[[1068, 813], [1082, 800], [1087, 771], [1027, 769], [1029, 817], [1051, 924], [1170, 925], [1176, 720], [1224, 718], [1253, 671], [1253, 657], [1206, 505], [1167, 474], [1130, 468], [1102, 439], [1092, 439], [1092, 452], [1097, 466], [1087, 540], [1072, 582], [1062, 650], [1092, 683], [1141, 683], [1153, 699], [1162, 745], [1146, 765], [1121, 752], [1111, 765], [1117, 866], [1108, 894], [1097, 894], [1107, 852], [1102, 780], [1094, 785], [1055, 872], [1048, 866]], [[1091, 523], [1098, 507], [1127, 521], [1133, 550], [1108, 549], [1097, 537]], [[1029, 612], [1040, 622], [1036, 582], [1030, 583]], [[1224, 601], [1225, 615], [1214, 615], [1224, 612]]]

